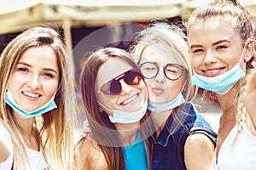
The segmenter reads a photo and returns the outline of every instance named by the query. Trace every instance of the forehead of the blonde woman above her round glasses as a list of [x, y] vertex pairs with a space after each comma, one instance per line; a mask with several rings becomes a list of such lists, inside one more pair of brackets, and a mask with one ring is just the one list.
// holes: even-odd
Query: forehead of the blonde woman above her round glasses
[[155, 62], [160, 64], [176, 63], [178, 64], [178, 59], [172, 48], [163, 43], [154, 43], [144, 49], [142, 54], [141, 63], [144, 62]]

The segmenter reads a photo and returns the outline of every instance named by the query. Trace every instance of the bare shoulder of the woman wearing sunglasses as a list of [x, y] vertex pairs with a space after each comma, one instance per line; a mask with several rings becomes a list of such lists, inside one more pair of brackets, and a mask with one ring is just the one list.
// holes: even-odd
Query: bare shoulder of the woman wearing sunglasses
[[102, 150], [90, 137], [80, 139], [76, 148], [75, 161], [81, 169], [107, 170], [108, 164]]

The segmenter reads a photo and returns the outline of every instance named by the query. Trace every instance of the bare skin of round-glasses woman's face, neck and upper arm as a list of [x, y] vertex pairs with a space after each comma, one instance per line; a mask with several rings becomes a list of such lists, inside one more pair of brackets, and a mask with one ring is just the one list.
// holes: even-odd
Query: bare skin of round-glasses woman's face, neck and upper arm
[[[154, 44], [155, 45], [155, 44]], [[140, 64], [144, 62], [154, 62], [157, 65], [165, 66], [169, 63], [177, 63], [172, 51], [169, 48], [161, 48], [163, 46], [148, 47], [145, 48], [142, 54], [142, 60]], [[155, 49], [160, 49], [155, 50]], [[168, 54], [168, 58], [166, 57]], [[176, 81], [167, 79], [164, 75], [163, 69], [153, 79], [145, 79], [148, 87], [148, 98], [152, 103], [164, 104], [170, 102], [177, 97], [182, 91], [183, 83], [186, 80], [186, 75], [183, 72], [181, 78]], [[156, 127], [160, 127], [157, 130], [157, 135], [160, 134], [161, 130], [165, 126], [166, 120], [172, 114], [172, 110], [165, 111], [162, 113], [154, 113], [151, 111], [151, 116]], [[186, 139], [184, 145], [184, 161], [187, 169], [210, 169], [212, 164], [214, 144], [212, 140], [207, 138], [206, 135], [201, 133], [191, 134]], [[200, 160], [200, 161], [198, 161]], [[201, 162], [205, 162], [202, 166]]]

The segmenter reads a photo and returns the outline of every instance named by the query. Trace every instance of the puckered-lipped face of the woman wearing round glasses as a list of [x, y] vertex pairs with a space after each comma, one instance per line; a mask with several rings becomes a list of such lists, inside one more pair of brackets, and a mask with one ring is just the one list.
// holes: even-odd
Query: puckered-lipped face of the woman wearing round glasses
[[162, 44], [159, 46], [154, 44], [154, 46], [145, 48], [140, 65], [145, 62], [153, 62], [160, 66], [160, 71], [156, 77], [145, 79], [148, 88], [148, 101], [154, 104], [164, 104], [175, 99], [183, 88], [186, 76], [184, 71], [182, 76], [174, 81], [165, 76], [163, 68], [167, 64], [179, 64], [170, 48], [165, 48]]

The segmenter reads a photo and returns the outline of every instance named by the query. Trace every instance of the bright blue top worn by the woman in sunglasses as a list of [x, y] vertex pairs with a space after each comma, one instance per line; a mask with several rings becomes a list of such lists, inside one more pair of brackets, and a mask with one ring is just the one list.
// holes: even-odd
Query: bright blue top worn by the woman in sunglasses
[[147, 154], [141, 134], [137, 133], [136, 141], [124, 147], [125, 170], [148, 170]]

